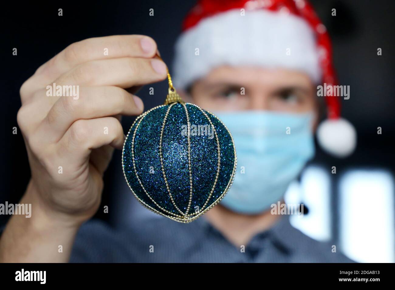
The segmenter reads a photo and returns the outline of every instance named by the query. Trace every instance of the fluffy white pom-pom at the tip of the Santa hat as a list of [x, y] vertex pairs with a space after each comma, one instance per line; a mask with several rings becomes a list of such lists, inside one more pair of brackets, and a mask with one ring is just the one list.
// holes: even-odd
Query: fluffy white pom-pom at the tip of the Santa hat
[[357, 145], [354, 126], [343, 118], [322, 122], [317, 129], [317, 139], [322, 149], [336, 157], [350, 155]]

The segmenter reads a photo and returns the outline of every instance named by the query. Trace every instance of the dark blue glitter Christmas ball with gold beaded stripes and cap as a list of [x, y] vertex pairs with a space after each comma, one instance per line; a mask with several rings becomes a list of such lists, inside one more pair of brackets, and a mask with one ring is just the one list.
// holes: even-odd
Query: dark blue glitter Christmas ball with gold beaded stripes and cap
[[232, 185], [233, 139], [216, 116], [184, 103], [169, 80], [165, 105], [137, 117], [122, 150], [126, 182], [139, 202], [189, 223], [217, 204]]

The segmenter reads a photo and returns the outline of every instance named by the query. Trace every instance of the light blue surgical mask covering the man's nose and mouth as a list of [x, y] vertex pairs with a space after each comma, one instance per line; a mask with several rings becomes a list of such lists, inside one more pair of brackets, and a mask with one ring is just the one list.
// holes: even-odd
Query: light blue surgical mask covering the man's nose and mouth
[[222, 205], [239, 213], [268, 210], [314, 156], [312, 114], [213, 112], [235, 142], [237, 171]]

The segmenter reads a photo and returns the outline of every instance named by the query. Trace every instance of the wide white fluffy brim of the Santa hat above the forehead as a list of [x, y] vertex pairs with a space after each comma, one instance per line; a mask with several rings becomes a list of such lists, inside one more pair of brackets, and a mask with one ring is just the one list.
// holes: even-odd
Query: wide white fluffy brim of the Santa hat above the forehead
[[173, 73], [177, 88], [220, 65], [284, 67], [304, 71], [316, 83], [321, 80], [312, 29], [301, 17], [282, 12], [246, 11], [242, 16], [240, 9], [229, 10], [181, 34]]

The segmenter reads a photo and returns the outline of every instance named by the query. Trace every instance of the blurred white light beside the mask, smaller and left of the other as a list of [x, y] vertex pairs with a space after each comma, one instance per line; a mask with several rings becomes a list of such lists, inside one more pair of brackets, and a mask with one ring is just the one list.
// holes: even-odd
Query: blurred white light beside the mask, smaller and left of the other
[[308, 167], [301, 175], [301, 183], [292, 183], [285, 195], [286, 203], [301, 203], [308, 214], [292, 215], [292, 226], [310, 238], [327, 241], [331, 238], [330, 181], [324, 168]]

